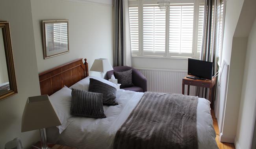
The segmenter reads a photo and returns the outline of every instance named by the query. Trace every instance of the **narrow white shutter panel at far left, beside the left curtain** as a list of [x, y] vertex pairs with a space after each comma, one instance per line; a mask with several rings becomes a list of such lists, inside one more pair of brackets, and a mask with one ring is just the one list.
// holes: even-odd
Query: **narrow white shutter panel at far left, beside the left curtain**
[[130, 38], [132, 55], [139, 53], [139, 9], [138, 7], [129, 7], [130, 17]]

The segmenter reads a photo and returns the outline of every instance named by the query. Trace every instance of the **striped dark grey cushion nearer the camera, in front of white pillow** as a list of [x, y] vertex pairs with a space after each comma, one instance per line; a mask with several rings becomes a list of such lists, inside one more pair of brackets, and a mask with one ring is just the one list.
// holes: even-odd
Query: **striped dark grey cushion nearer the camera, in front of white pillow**
[[106, 118], [102, 104], [103, 94], [72, 89], [71, 95], [70, 113], [72, 115], [91, 118]]

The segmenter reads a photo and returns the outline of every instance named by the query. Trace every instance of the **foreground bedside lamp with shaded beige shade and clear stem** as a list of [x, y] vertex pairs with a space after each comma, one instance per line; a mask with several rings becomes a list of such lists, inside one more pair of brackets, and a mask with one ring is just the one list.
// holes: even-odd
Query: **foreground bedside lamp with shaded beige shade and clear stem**
[[28, 97], [21, 122], [21, 132], [39, 129], [42, 149], [49, 149], [45, 128], [61, 125], [48, 95]]

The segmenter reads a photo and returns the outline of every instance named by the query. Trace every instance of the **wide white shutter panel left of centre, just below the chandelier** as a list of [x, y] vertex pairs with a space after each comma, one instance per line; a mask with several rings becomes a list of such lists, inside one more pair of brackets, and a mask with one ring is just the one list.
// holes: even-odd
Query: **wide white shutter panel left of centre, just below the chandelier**
[[143, 53], [165, 55], [165, 11], [158, 6], [143, 6]]

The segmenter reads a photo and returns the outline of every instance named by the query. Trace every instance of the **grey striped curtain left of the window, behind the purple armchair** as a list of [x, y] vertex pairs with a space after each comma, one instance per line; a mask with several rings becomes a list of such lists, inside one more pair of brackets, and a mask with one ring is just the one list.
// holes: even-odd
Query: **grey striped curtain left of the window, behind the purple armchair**
[[114, 66], [131, 66], [128, 0], [115, 0]]

